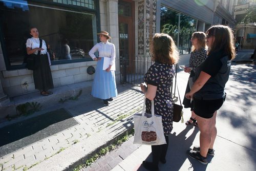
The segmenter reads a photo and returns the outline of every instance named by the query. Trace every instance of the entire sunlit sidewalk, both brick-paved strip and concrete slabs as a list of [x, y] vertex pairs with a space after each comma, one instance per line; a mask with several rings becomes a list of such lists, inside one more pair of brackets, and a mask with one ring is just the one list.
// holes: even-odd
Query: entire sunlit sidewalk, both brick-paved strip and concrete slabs
[[[249, 53], [241, 51], [239, 56], [248, 56]], [[216, 156], [210, 158], [211, 163], [201, 166], [197, 161], [187, 158], [185, 151], [199, 144], [199, 131], [194, 127], [186, 128], [184, 123], [174, 123], [174, 130], [169, 136], [169, 160], [160, 166], [161, 170], [187, 170], [192, 167], [194, 170], [256, 170], [255, 68], [250, 63], [232, 63], [231, 76], [226, 86], [227, 99], [217, 117], [219, 132]], [[178, 71], [177, 81], [182, 99], [187, 77], [182, 70]], [[103, 106], [100, 99], [90, 96], [88, 92], [78, 100], [68, 100], [53, 106], [48, 102], [49, 107], [40, 112], [1, 123], [0, 130], [12, 127], [15, 123], [19, 124], [20, 129], [14, 134], [11, 130], [5, 132], [15, 135], [10, 143], [3, 145], [3, 139], [0, 139], [0, 170], [26, 170], [31, 166], [29, 170], [36, 171], [73, 170], [84, 164], [101, 147], [111, 144], [133, 127], [132, 114], [141, 110], [143, 94], [139, 87], [130, 84], [119, 85], [118, 93], [109, 106]], [[47, 102], [44, 104], [47, 105]], [[126, 118], [118, 121], [121, 115]], [[190, 112], [185, 109], [184, 120], [189, 117]], [[20, 133], [25, 123], [27, 131]], [[37, 130], [32, 129], [33, 126]], [[32, 130], [33, 134], [30, 133]], [[143, 170], [140, 164], [148, 157], [150, 160], [150, 146], [133, 145], [132, 141], [125, 142], [123, 145], [126, 146], [119, 148], [123, 151], [116, 152], [117, 149], [117, 154], [104, 156], [86, 170]]]

